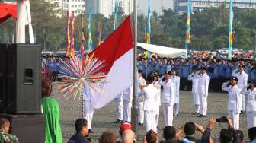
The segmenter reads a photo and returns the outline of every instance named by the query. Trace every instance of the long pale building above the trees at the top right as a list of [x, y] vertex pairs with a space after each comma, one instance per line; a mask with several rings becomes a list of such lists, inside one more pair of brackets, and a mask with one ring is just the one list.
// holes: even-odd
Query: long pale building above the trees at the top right
[[[229, 0], [190, 0], [192, 11], [203, 11], [205, 8], [229, 6]], [[178, 14], [187, 12], [187, 0], [175, 0], [175, 11]], [[233, 7], [242, 9], [256, 9], [256, 0], [233, 0]]]

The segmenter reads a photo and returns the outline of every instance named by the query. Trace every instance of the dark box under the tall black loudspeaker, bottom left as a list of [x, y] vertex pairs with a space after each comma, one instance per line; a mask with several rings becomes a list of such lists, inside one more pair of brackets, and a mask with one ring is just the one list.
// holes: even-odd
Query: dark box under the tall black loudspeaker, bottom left
[[16, 135], [19, 142], [45, 142], [45, 120], [42, 114], [24, 116], [0, 114], [0, 117], [9, 120], [11, 124], [9, 133]]

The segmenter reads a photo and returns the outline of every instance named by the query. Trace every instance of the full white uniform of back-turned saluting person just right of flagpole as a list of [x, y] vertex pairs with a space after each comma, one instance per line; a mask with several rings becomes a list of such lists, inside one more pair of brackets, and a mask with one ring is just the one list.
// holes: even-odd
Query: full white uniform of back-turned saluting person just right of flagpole
[[146, 86], [143, 91], [139, 93], [139, 96], [145, 97], [144, 100], [144, 111], [145, 111], [145, 122], [146, 122], [146, 132], [150, 129], [157, 132], [155, 123], [155, 100], [158, 96], [158, 90], [153, 84]]

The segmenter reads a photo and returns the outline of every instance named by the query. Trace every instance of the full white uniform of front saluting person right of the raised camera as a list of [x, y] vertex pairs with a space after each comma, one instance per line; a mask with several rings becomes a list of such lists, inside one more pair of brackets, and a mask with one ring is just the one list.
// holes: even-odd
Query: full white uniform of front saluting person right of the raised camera
[[228, 112], [229, 117], [232, 119], [232, 124], [234, 129], [239, 129], [239, 114], [242, 110], [242, 94], [241, 89], [235, 86], [227, 87], [227, 83], [222, 84], [222, 90], [228, 91], [229, 93], [229, 103], [228, 103]]

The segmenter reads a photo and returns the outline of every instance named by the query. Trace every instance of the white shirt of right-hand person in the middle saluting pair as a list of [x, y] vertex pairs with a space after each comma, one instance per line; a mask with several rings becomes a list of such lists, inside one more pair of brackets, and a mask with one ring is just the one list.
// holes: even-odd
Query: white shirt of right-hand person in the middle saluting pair
[[206, 73], [198, 76], [198, 94], [208, 96], [209, 81], [210, 78]]

